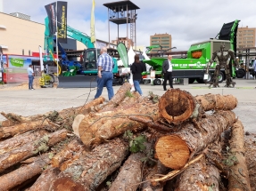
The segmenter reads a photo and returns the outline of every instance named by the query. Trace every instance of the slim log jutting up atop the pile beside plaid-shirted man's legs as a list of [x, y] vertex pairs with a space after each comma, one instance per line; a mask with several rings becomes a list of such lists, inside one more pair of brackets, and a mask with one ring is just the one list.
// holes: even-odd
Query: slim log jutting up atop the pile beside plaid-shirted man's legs
[[109, 102], [103, 107], [103, 111], [110, 110], [111, 108], [118, 107], [120, 102], [127, 97], [127, 92], [130, 92], [131, 84], [125, 83], [120, 86], [120, 89], [116, 94], [109, 100]]

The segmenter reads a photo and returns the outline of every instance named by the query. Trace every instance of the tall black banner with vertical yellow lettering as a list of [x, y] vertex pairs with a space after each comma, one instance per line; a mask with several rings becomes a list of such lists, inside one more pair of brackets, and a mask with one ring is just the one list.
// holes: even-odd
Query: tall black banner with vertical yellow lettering
[[63, 1], [57, 2], [57, 29], [58, 42], [67, 43], [67, 8], [68, 3]]

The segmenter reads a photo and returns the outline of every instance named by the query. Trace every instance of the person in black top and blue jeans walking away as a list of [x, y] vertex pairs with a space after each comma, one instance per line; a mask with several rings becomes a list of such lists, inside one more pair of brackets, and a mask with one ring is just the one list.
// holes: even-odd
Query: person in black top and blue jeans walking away
[[131, 65], [130, 70], [133, 76], [133, 84], [136, 92], [138, 92], [140, 95], [143, 95], [139, 83], [142, 79], [141, 73], [145, 72], [146, 68], [145, 68], [145, 63], [139, 60], [138, 54], [135, 55], [134, 63]]

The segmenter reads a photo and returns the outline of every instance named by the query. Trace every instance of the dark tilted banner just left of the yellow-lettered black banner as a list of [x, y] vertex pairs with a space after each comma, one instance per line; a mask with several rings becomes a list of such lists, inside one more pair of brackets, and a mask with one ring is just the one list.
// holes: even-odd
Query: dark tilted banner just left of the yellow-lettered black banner
[[49, 18], [50, 35], [54, 36], [56, 33], [56, 3], [45, 5], [45, 10]]

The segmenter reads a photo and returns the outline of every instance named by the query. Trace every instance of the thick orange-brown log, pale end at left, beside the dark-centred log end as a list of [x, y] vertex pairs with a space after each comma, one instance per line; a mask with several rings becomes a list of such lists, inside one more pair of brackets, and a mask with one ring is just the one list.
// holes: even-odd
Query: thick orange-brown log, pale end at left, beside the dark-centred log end
[[[142, 130], [145, 123], [138, 123], [128, 119], [128, 115], [146, 115], [146, 118], [158, 117], [157, 104], [144, 102], [129, 108], [118, 108], [110, 111], [108, 115], [87, 115], [78, 125], [79, 137], [86, 146], [96, 146], [119, 136], [127, 130]], [[75, 120], [76, 121], [76, 118]]]

